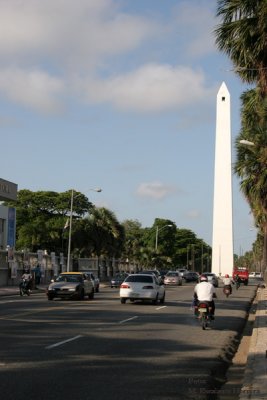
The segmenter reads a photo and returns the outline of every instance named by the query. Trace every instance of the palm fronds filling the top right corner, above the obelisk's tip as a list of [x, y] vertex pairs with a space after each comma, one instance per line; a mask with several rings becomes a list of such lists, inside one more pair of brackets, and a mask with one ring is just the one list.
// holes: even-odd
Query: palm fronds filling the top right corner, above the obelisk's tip
[[267, 94], [267, 2], [218, 0], [216, 44], [233, 62], [243, 82], [256, 83]]

